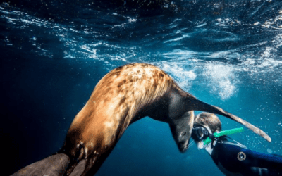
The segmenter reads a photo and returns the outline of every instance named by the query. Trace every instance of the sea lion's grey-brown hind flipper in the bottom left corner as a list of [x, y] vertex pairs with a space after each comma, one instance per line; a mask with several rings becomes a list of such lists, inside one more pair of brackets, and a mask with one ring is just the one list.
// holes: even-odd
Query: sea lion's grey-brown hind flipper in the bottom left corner
[[70, 163], [70, 158], [64, 153], [57, 153], [41, 161], [37, 161], [25, 168], [18, 170], [11, 176], [27, 176], [27, 175], [52, 175], [61, 176], [64, 175], [68, 164]]

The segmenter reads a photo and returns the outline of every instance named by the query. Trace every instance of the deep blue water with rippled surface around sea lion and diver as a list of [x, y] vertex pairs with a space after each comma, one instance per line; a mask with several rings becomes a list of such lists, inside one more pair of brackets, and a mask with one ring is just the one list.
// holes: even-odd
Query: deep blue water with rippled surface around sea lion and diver
[[[282, 154], [282, 2], [6, 1], [0, 3], [4, 175], [60, 149], [109, 70], [152, 63], [198, 99], [269, 134], [232, 137]], [[198, 112], [197, 112], [198, 113]], [[220, 117], [223, 130], [241, 127]], [[97, 175], [222, 175], [196, 146], [180, 153], [167, 124], [128, 127]]]

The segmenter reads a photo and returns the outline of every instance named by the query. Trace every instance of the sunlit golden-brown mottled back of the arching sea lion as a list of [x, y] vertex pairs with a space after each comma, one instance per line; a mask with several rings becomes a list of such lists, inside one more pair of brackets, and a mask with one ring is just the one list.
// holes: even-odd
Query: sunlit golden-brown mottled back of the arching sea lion
[[88, 151], [111, 146], [141, 108], [157, 101], [172, 86], [177, 87], [154, 65], [133, 63], [116, 68], [98, 82], [73, 120], [69, 137]]

